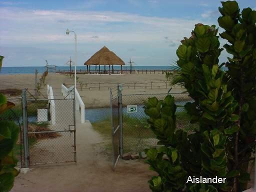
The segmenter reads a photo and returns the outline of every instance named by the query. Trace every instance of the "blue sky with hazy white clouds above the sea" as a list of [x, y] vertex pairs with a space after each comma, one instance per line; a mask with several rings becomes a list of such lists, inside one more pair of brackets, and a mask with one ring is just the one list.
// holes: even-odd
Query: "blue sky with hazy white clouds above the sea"
[[[256, 0], [237, 0], [256, 10]], [[77, 65], [102, 46], [126, 64], [170, 65], [194, 24], [215, 24], [219, 0], [0, 0], [0, 55], [3, 66]], [[221, 31], [221, 29], [219, 29]], [[225, 43], [221, 40], [221, 44]], [[223, 52], [220, 62], [226, 60]]]

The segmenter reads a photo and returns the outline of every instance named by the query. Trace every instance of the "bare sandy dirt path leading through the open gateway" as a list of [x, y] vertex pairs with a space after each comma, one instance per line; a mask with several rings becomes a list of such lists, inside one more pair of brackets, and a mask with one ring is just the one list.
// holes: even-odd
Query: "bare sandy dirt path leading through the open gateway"
[[111, 159], [102, 152], [104, 140], [91, 124], [77, 124], [76, 130], [76, 165], [34, 166], [16, 177], [11, 191], [150, 191], [147, 180], [155, 173], [147, 164], [120, 160], [112, 171]]

